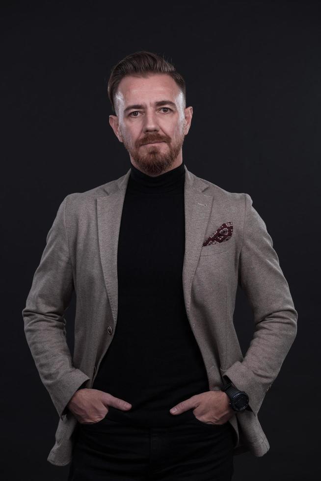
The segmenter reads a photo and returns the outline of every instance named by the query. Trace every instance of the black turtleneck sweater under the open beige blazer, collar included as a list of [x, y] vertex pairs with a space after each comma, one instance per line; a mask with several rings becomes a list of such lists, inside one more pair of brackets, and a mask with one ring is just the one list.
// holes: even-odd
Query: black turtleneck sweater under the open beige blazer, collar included
[[204, 361], [187, 319], [184, 163], [157, 177], [132, 165], [122, 211], [117, 268], [118, 316], [93, 388], [128, 401], [107, 418], [142, 427], [186, 422], [192, 409], [169, 409], [209, 391]]

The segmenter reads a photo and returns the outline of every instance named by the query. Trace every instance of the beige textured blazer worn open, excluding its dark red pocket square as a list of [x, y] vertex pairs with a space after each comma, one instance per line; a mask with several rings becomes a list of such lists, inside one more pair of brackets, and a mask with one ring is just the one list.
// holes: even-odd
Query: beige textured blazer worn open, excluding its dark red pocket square
[[[228, 192], [186, 170], [183, 289], [187, 318], [203, 356], [210, 390], [222, 375], [249, 396], [252, 411], [228, 422], [237, 434], [235, 454], [267, 453], [258, 411], [294, 341], [297, 312], [265, 222], [249, 194]], [[93, 385], [117, 321], [117, 246], [130, 170], [117, 180], [61, 202], [47, 236], [23, 309], [28, 346], [59, 414], [48, 461], [72, 458], [77, 420], [66, 408], [86, 381]], [[232, 237], [203, 246], [224, 222]], [[156, 254], [157, 255], [157, 254]], [[254, 334], [243, 358], [233, 324], [237, 286], [254, 315]], [[66, 343], [66, 320], [77, 294], [75, 348]], [[111, 393], [112, 394], [112, 393]]]

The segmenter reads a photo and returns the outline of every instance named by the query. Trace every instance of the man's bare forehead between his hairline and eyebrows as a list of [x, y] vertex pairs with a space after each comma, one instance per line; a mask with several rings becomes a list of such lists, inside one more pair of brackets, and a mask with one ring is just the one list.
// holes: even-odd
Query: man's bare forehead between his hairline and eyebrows
[[183, 95], [172, 77], [166, 74], [152, 74], [146, 78], [124, 77], [119, 82], [115, 98], [126, 107], [132, 103], [150, 103], [164, 99], [175, 102], [180, 94]]

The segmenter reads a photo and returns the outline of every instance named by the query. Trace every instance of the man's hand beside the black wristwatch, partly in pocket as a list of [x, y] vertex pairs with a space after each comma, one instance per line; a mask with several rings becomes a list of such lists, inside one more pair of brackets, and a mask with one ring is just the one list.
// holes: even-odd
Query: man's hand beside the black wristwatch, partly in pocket
[[[169, 412], [176, 415], [194, 407], [193, 414], [199, 421], [207, 424], [224, 424], [235, 414], [229, 402], [230, 398], [223, 391], [207, 391], [179, 402]], [[174, 408], [177, 411], [173, 412]]]

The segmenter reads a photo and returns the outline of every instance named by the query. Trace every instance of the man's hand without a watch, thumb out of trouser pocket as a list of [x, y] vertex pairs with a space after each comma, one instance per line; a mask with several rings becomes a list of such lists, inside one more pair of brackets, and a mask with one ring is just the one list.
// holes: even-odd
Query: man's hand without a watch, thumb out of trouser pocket
[[80, 424], [98, 423], [107, 415], [108, 406], [128, 411], [132, 404], [104, 391], [87, 388], [76, 391], [67, 404], [68, 409]]

